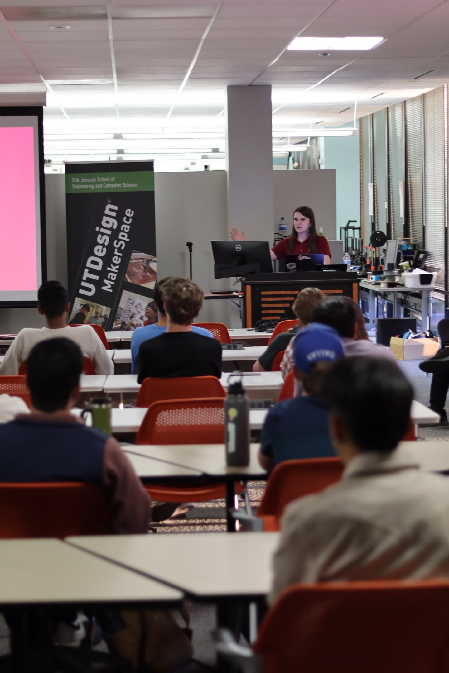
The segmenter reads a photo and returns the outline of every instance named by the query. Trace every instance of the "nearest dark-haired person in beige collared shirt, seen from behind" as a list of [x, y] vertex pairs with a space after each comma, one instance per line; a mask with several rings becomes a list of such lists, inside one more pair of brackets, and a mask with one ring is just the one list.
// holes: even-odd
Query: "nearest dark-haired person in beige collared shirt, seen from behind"
[[413, 390], [383, 358], [343, 358], [324, 378], [341, 481], [290, 503], [270, 600], [292, 583], [449, 577], [446, 477], [398, 444]]

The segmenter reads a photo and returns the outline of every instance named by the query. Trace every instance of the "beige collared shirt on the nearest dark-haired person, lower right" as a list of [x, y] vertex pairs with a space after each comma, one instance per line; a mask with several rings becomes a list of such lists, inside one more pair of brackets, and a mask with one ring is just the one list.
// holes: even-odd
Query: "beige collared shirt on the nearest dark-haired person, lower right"
[[360, 454], [339, 483], [290, 503], [269, 601], [295, 582], [449, 578], [449, 481], [407, 450]]

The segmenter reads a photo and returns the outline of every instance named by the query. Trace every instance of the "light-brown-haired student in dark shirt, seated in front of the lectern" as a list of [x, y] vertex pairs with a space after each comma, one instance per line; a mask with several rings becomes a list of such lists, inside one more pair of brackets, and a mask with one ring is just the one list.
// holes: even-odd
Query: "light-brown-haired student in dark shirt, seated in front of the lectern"
[[291, 310], [298, 318], [298, 324], [293, 327], [292, 330], [281, 332], [281, 334], [275, 336], [271, 344], [262, 353], [261, 357], [254, 362], [254, 365], [252, 365], [252, 371], [271, 371], [273, 369], [273, 362], [277, 353], [285, 351], [289, 344], [292, 343], [293, 336], [295, 336], [302, 327], [309, 324], [312, 310], [315, 304], [318, 304], [321, 299], [324, 299], [324, 294], [316, 287], [304, 287], [304, 289], [300, 291], [291, 306]]

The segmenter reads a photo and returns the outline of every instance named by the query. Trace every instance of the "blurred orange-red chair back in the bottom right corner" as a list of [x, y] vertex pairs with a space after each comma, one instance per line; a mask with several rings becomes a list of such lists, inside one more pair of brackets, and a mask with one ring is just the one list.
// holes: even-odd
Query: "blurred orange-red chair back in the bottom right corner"
[[264, 673], [446, 673], [449, 584], [293, 584], [253, 645]]

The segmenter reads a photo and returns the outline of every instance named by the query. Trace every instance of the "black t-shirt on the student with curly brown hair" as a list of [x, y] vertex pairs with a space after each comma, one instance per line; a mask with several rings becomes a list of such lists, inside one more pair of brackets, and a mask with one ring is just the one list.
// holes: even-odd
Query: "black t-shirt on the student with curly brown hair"
[[143, 341], [139, 348], [141, 383], [153, 378], [221, 376], [221, 343], [195, 332], [165, 332]]

